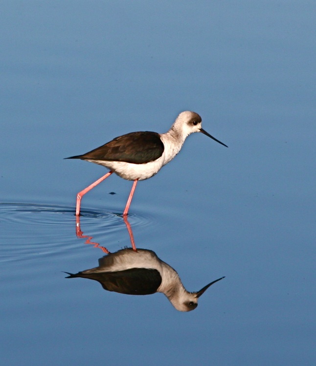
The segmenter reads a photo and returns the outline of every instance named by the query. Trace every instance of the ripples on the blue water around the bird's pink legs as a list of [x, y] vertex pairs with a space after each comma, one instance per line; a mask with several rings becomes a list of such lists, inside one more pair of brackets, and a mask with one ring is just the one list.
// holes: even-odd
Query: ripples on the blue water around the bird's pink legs
[[[152, 229], [157, 215], [133, 212], [128, 216], [133, 231]], [[73, 206], [40, 203], [0, 203], [0, 223], [3, 227], [0, 261], [16, 261], [35, 255], [54, 256], [65, 251], [83, 248], [83, 238], [76, 236], [76, 217]], [[121, 214], [82, 210], [80, 226], [83, 235], [110, 250], [130, 245], [127, 227]], [[81, 239], [81, 241], [80, 241]], [[113, 245], [115, 248], [112, 249]]]

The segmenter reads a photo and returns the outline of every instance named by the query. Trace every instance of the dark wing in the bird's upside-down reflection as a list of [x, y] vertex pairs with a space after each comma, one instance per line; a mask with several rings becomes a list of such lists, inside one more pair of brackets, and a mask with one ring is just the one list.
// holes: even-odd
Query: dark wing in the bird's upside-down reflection
[[98, 281], [105, 290], [127, 295], [154, 294], [161, 284], [161, 276], [157, 269], [130, 268], [117, 272], [68, 274], [67, 278], [88, 278]]

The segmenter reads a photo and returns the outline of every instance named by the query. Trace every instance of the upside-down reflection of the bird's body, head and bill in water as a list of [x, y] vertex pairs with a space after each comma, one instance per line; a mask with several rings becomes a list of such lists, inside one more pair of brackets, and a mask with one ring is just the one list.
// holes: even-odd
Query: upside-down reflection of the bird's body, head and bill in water
[[105, 290], [126, 295], [163, 293], [179, 311], [191, 311], [198, 306], [199, 297], [207, 288], [222, 280], [212, 281], [197, 292], [189, 292], [182, 285], [174, 268], [149, 249], [120, 249], [99, 259], [99, 266], [66, 278], [87, 278], [99, 282]]

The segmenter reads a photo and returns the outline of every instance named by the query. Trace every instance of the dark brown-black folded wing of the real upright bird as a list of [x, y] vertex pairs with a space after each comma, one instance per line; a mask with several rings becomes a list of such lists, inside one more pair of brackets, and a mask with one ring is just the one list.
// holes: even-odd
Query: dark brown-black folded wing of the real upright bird
[[67, 159], [101, 160], [143, 164], [157, 160], [164, 145], [157, 132], [131, 132], [83, 155]]

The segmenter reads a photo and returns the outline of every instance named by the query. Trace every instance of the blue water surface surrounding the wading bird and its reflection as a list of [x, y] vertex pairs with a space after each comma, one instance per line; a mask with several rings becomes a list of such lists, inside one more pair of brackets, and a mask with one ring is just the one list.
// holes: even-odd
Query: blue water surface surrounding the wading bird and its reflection
[[[315, 31], [315, 1], [2, 1], [3, 365], [315, 365]], [[106, 170], [63, 158], [182, 110], [229, 148], [190, 136], [130, 223], [188, 290], [226, 279], [190, 313], [65, 280], [103, 255], [74, 207]], [[110, 251], [130, 188], [83, 199]]]

